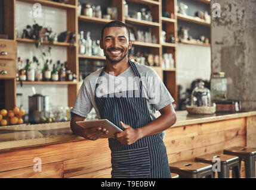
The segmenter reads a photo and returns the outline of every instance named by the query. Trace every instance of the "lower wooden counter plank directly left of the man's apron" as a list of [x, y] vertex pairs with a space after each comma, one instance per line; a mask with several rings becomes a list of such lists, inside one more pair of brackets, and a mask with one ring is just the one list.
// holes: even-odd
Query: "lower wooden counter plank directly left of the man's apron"
[[106, 152], [97, 151], [97, 153], [95, 152], [82, 158], [65, 160], [64, 178], [91, 173], [109, 167], [111, 167], [110, 150]]

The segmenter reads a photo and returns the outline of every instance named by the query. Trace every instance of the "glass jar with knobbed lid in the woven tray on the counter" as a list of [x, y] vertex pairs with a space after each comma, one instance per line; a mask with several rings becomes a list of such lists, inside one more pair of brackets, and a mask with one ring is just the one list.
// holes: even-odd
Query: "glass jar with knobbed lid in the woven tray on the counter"
[[205, 83], [199, 81], [191, 94], [191, 106], [212, 106], [211, 93], [204, 87]]

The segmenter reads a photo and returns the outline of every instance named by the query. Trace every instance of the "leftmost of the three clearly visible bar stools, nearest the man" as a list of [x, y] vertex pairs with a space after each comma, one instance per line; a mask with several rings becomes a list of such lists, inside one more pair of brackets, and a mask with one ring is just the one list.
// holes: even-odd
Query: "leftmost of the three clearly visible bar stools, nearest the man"
[[211, 164], [180, 161], [171, 163], [169, 168], [171, 172], [178, 173], [180, 178], [214, 178]]

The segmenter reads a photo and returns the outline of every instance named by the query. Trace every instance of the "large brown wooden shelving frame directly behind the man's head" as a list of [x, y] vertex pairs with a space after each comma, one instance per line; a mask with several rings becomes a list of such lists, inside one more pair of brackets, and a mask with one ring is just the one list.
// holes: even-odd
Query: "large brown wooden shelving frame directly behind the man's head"
[[[53, 44], [50, 42], [43, 42], [43, 45], [53, 45], [53, 46], [64, 46], [67, 49], [67, 63], [69, 68], [72, 72], [74, 72], [77, 77], [79, 76], [79, 59], [91, 59], [91, 60], [105, 60], [106, 58], [104, 56], [86, 56], [86, 55], [79, 55], [78, 52], [78, 21], [85, 21], [88, 23], [98, 23], [98, 24], [106, 24], [109, 23], [112, 20], [107, 20], [103, 18], [92, 18], [87, 17], [85, 15], [78, 15], [77, 12], [77, 6], [78, 6], [78, 0], [69, 0], [68, 4], [61, 4], [58, 2], [53, 1], [47, 1], [47, 0], [4, 0], [5, 1], [5, 33], [8, 34], [11, 40], [14, 40], [17, 43], [36, 43], [35, 40], [30, 39], [16, 39], [16, 20], [15, 20], [15, 10], [16, 10], [16, 1], [22, 1], [27, 2], [30, 4], [39, 3], [43, 6], [48, 7], [54, 7], [54, 8], [60, 8], [65, 9], [67, 11], [67, 17], [65, 18], [67, 20], [67, 30], [73, 32], [76, 34], [76, 43], [75, 46], [73, 46], [70, 43], [61, 43], [61, 42], [54, 42]], [[173, 31], [175, 33], [175, 37], [177, 37], [177, 16], [175, 15], [175, 19], [171, 18], [164, 18], [162, 17], [162, 1], [154, 1], [154, 0], [127, 0], [127, 2], [133, 2], [143, 5], [149, 5], [151, 8], [152, 16], [153, 16], [153, 22], [149, 21], [141, 21], [134, 18], [126, 18], [125, 17], [125, 8], [124, 8], [124, 1], [125, 0], [112, 0], [113, 7], [118, 8], [118, 20], [123, 21], [124, 23], [128, 24], [134, 24], [139, 26], [146, 26], [150, 27], [152, 29], [152, 33], [155, 34], [155, 36], [158, 39], [158, 42], [160, 42], [160, 37], [162, 33], [162, 23], [165, 23], [168, 29], [168, 31]], [[175, 6], [176, 6], [177, 0], [166, 0], [166, 5], [168, 4], [168, 7], [166, 7], [166, 11], [168, 11], [170, 14], [171, 12], [175, 12]], [[170, 6], [171, 4], [171, 6]], [[7, 11], [8, 10], [8, 11]], [[64, 19], [64, 18], [63, 18]], [[175, 48], [177, 44], [170, 44], [170, 43], [145, 43], [145, 42], [133, 42], [134, 46], [141, 46], [141, 47], [148, 47], [150, 49], [150, 53], [154, 55], [159, 55], [159, 59], [162, 57], [163, 49], [165, 49], [168, 53], [174, 53], [174, 59], [175, 59]], [[176, 70], [175, 68], [170, 69], [163, 69], [161, 66], [159, 67], [153, 67], [158, 73], [162, 76], [161, 78], [164, 80], [163, 76], [165, 76], [165, 85], [174, 97], [174, 99], [177, 101], [177, 86], [176, 86]], [[14, 81], [14, 85], [20, 84], [20, 82]], [[76, 95], [78, 94], [79, 90], [79, 83], [73, 83], [73, 82], [30, 82], [30, 81], [23, 81], [23, 84], [66, 84], [68, 86], [68, 106], [73, 106], [76, 100]], [[14, 92], [15, 93], [15, 92]]]

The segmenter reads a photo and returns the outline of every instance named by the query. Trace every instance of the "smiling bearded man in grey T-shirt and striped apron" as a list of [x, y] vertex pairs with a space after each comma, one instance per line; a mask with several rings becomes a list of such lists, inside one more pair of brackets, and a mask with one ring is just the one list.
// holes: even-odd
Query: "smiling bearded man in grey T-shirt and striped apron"
[[[99, 119], [124, 130], [109, 138], [112, 178], [171, 178], [163, 131], [176, 122], [174, 100], [153, 69], [129, 61], [131, 46], [124, 23], [104, 26], [100, 47], [106, 66], [85, 78], [72, 109], [71, 129], [88, 140], [107, 134], [104, 128], [83, 129], [75, 123], [94, 107]], [[157, 119], [155, 110], [161, 113]]]

